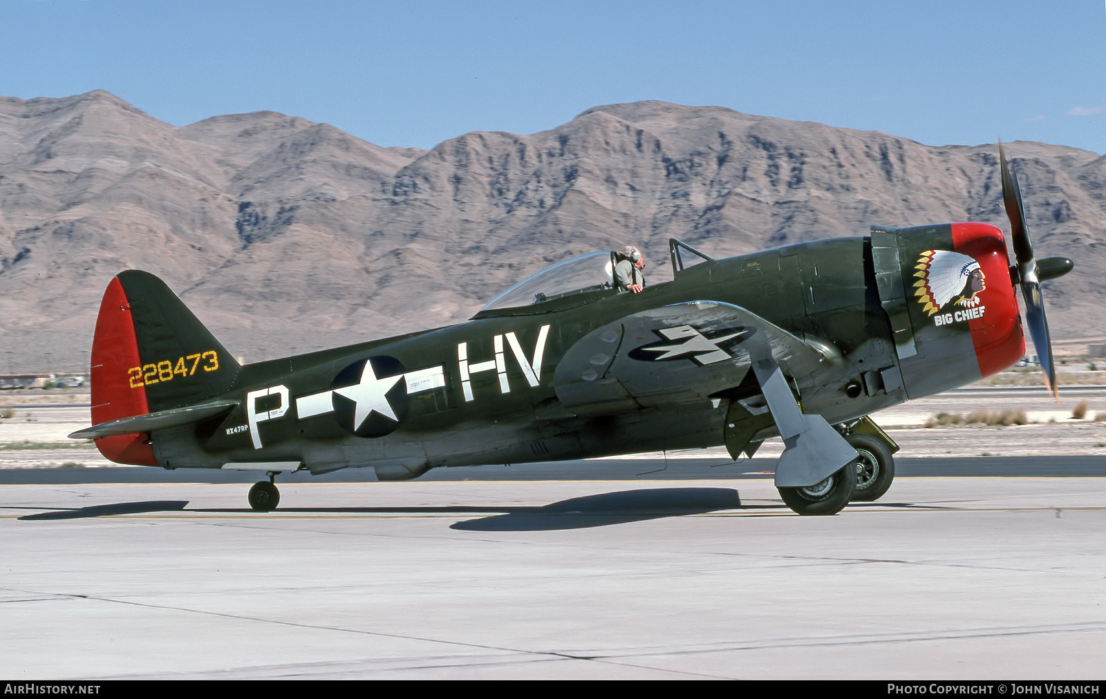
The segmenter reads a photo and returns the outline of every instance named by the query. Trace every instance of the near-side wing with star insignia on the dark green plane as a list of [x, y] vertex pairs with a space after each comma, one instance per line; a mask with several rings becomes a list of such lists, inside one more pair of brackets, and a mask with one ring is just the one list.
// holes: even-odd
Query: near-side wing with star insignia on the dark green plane
[[557, 364], [553, 388], [576, 415], [609, 415], [705, 400], [771, 358], [802, 379], [826, 356], [740, 306], [692, 301], [628, 315], [595, 330]]

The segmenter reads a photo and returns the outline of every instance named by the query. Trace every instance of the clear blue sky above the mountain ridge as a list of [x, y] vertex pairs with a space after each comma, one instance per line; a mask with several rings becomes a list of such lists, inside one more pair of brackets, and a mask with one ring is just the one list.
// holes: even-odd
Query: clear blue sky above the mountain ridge
[[0, 95], [185, 125], [274, 109], [383, 146], [664, 100], [925, 144], [1106, 153], [1104, 0], [0, 0]]

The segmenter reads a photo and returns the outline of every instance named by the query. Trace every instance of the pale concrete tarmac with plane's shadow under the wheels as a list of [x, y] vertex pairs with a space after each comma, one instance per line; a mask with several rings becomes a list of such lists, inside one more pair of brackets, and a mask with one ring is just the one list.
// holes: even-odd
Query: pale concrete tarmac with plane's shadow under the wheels
[[281, 493], [255, 513], [240, 483], [0, 486], [0, 676], [1106, 671], [1106, 478], [905, 477], [830, 518], [765, 478]]

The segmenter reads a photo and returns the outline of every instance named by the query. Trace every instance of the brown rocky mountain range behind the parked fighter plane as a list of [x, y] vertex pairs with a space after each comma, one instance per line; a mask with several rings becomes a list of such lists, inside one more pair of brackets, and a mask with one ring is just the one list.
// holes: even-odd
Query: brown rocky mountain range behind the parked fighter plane
[[[1060, 338], [1102, 336], [1106, 158], [1018, 142]], [[248, 361], [468, 317], [542, 267], [667, 240], [716, 257], [873, 223], [1006, 228], [998, 148], [662, 102], [384, 148], [273, 112], [176, 127], [114, 95], [0, 97], [0, 373], [87, 362], [116, 272], [161, 275]]]

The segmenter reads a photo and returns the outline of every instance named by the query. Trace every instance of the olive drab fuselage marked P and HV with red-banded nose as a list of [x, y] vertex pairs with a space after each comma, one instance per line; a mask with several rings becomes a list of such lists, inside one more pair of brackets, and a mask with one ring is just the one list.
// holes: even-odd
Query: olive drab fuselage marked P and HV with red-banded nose
[[[960, 260], [950, 254], [978, 260], [969, 271], [971, 284], [985, 289], [968, 301], [967, 292], [945, 299], [949, 284], [942, 286], [942, 280], [956, 272], [946, 268]], [[1005, 243], [989, 226], [874, 229], [870, 237], [679, 267], [674, 253], [675, 279], [637, 294], [584, 290], [486, 310], [458, 325], [241, 367], [221, 345], [196, 341], [160, 348], [164, 357], [140, 348], [112, 371], [129, 372], [125, 379], [139, 383], [150, 410], [197, 400], [234, 403], [229, 411], [152, 430], [149, 456], [138, 462], [154, 460], [166, 468], [261, 462], [274, 465], [273, 470], [313, 472], [373, 466], [382, 479], [403, 479], [441, 466], [723, 444], [737, 455], [775, 436], [771, 414], [757, 403], [760, 392], [751, 374], [709, 395], [675, 392], [668, 400], [646, 405], [630, 397], [611, 410], [565, 405], [557, 372], [568, 371], [560, 365], [574, 345], [620, 319], [674, 304], [738, 306], [821, 353], [816, 372], [789, 376], [789, 382], [802, 410], [831, 424], [977, 380], [1013, 364], [1024, 351], [1011, 283], [1003, 279]], [[938, 306], [939, 301], [945, 303]], [[697, 357], [700, 364], [712, 362], [716, 353], [739, 346], [733, 343], [741, 336], [685, 325], [618, 342], [638, 343], [634, 356], [675, 366]], [[702, 349], [684, 356], [666, 349], [691, 342]], [[594, 364], [593, 369], [586, 361], [573, 365], [581, 374], [574, 380], [585, 387], [593, 379], [617, 384], [603, 375], [609, 357]], [[142, 385], [147, 373], [161, 383]], [[197, 388], [177, 397], [169, 390], [173, 382]]]

